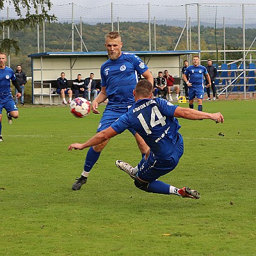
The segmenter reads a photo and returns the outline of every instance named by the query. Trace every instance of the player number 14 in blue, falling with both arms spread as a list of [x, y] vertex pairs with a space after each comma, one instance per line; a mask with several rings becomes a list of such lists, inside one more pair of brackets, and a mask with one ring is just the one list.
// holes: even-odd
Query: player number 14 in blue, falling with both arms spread
[[177, 118], [211, 119], [216, 123], [223, 123], [223, 115], [180, 108], [161, 98], [152, 100], [152, 89], [149, 81], [139, 81], [134, 90], [136, 103], [127, 113], [85, 143], [71, 144], [68, 150], [92, 147], [132, 128], [140, 134], [150, 149], [137, 166], [132, 167], [122, 160], [116, 160], [116, 166], [128, 173], [134, 180], [134, 185], [143, 191], [198, 199], [200, 193], [195, 189], [177, 188], [157, 179], [174, 170], [184, 152]]

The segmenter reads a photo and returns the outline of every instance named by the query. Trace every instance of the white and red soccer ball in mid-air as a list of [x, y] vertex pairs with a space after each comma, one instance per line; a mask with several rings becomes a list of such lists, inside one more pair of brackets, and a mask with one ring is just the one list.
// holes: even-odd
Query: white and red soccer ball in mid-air
[[90, 102], [82, 97], [78, 97], [70, 103], [70, 112], [78, 118], [87, 116], [90, 113], [90, 110]]

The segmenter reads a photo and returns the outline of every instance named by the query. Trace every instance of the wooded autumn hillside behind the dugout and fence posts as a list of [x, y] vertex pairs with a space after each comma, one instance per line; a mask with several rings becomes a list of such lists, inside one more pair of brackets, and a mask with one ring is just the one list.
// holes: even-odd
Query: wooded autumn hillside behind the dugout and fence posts
[[[79, 29], [79, 25], [77, 25]], [[114, 24], [117, 28], [117, 24]], [[52, 22], [45, 24], [45, 51], [71, 51], [71, 24]], [[104, 35], [111, 31], [111, 24], [83, 24], [83, 40], [88, 51], [105, 51]], [[180, 36], [182, 28], [177, 26], [156, 25], [156, 49], [157, 51], [173, 50]], [[202, 26], [201, 49], [216, 50], [216, 42], [218, 49], [223, 49], [223, 29], [215, 29]], [[124, 51], [148, 51], [148, 24], [143, 22], [121, 22], [120, 33], [124, 42]], [[246, 48], [250, 47], [255, 35], [256, 29], [246, 29]], [[243, 31], [242, 28], [226, 28], [226, 49], [243, 49]], [[18, 41], [20, 52], [15, 56], [15, 52], [11, 49], [11, 67], [15, 68], [17, 64], [24, 67], [24, 71], [31, 74], [29, 54], [34, 54], [37, 49], [37, 31], [36, 28], [20, 29], [19, 31], [11, 31], [11, 36]], [[154, 29], [151, 28], [152, 50], [154, 50]], [[198, 35], [197, 27], [191, 29], [192, 49], [197, 49]], [[177, 50], [186, 50], [186, 31], [180, 39]], [[256, 49], [255, 44], [252, 49]], [[80, 38], [75, 30], [74, 33], [74, 51], [81, 51]], [[83, 51], [86, 51], [83, 47]], [[43, 33], [40, 27], [40, 52], [43, 52]], [[230, 52], [226, 54], [227, 59], [238, 59], [243, 56], [242, 52]], [[218, 54], [218, 59], [221, 59]], [[204, 53], [202, 58], [216, 59], [216, 53]], [[253, 58], [256, 58], [255, 52]]]

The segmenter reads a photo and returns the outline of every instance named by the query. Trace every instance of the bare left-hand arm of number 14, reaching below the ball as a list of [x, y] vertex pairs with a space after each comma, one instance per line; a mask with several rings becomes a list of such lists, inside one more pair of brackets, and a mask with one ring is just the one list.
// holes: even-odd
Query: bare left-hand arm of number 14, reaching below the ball
[[90, 140], [85, 143], [73, 143], [68, 146], [68, 151], [74, 149], [83, 150], [84, 148], [92, 147], [95, 145], [99, 145], [100, 143], [109, 140], [110, 138], [116, 136], [118, 133], [112, 128], [108, 127], [107, 129], [97, 133], [95, 136], [90, 138]]

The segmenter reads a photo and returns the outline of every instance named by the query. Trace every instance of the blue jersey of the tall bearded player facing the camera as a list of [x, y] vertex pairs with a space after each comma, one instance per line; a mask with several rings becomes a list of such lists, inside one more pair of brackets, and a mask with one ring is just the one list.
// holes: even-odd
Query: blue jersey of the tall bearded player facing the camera
[[122, 52], [117, 60], [109, 59], [102, 64], [101, 86], [106, 86], [108, 106], [127, 107], [134, 104], [133, 90], [138, 83], [138, 75], [148, 70], [147, 65], [136, 56]]

